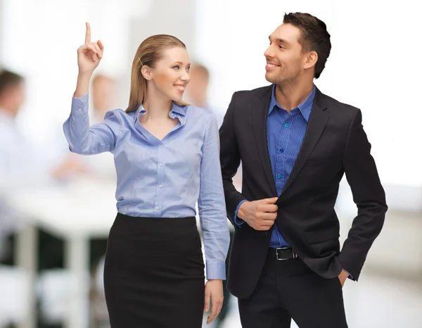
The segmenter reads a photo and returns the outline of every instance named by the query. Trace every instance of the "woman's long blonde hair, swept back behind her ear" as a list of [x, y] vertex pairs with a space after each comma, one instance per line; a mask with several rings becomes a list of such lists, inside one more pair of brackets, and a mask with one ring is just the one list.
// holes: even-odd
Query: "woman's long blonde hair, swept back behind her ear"
[[[154, 68], [157, 61], [162, 58], [163, 51], [175, 46], [186, 49], [186, 45], [177, 37], [168, 34], [157, 34], [146, 38], [139, 45], [132, 63], [132, 75], [130, 83], [129, 106], [126, 113], [136, 111], [146, 98], [146, 79], [143, 77], [141, 69], [143, 65]], [[186, 106], [185, 101], [175, 101], [179, 106]]]

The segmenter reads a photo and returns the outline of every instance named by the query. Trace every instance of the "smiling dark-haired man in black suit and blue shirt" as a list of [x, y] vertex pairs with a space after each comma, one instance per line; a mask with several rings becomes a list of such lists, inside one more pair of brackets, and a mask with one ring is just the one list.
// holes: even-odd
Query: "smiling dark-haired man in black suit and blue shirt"
[[[314, 86], [331, 51], [324, 22], [289, 13], [264, 56], [271, 86], [235, 92], [220, 129], [227, 213], [236, 232], [228, 288], [245, 328], [347, 327], [356, 280], [387, 205], [358, 108]], [[242, 162], [239, 193], [232, 177]], [[345, 173], [357, 203], [340, 251], [334, 204]]]

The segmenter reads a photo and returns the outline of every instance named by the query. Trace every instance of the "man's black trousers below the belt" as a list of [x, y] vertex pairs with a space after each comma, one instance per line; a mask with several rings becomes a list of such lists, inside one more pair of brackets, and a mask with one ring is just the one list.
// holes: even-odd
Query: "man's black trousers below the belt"
[[338, 278], [316, 275], [299, 258], [277, 260], [269, 252], [252, 296], [239, 299], [243, 328], [347, 328]]

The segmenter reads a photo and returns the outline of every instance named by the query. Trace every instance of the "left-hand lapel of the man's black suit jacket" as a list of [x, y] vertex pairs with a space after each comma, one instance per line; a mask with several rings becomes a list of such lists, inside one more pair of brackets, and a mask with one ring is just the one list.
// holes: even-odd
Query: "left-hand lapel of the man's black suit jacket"
[[264, 167], [265, 176], [267, 177], [271, 193], [277, 196], [276, 184], [271, 170], [271, 161], [269, 159], [267, 145], [267, 115], [269, 101], [271, 101], [272, 85], [261, 90], [254, 101], [251, 103], [252, 126], [257, 143], [258, 153]]

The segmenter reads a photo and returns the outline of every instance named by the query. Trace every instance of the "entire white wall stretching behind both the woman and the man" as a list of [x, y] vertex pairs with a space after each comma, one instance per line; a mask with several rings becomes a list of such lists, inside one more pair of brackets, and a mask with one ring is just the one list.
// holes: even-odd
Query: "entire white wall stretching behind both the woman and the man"
[[[20, 124], [34, 141], [61, 133], [77, 76], [84, 22], [106, 46], [100, 70], [129, 85], [133, 52], [146, 34], [184, 40], [192, 60], [212, 73], [211, 104], [226, 111], [231, 94], [267, 84], [264, 50], [283, 13], [307, 11], [326, 22], [333, 49], [316, 80], [321, 91], [362, 108], [385, 184], [422, 185], [421, 51], [418, 2], [241, 0], [3, 0], [0, 63], [24, 74]], [[196, 4], [196, 5], [195, 5]], [[25, 9], [21, 9], [25, 8]], [[122, 96], [127, 104], [127, 94]]]

